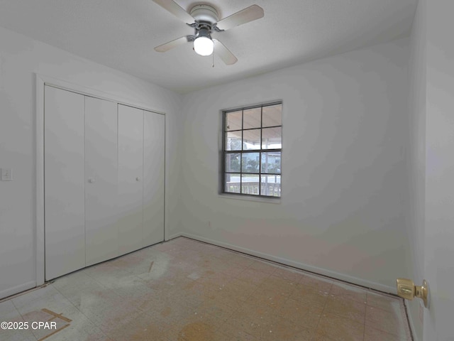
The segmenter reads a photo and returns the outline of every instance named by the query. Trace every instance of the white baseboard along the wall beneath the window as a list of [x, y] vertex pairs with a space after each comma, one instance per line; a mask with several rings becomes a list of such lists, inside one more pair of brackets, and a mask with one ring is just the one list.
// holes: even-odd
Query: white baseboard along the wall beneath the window
[[172, 237], [169, 237], [169, 239], [173, 239], [173, 238], [180, 237], [180, 236], [181, 237], [188, 237], [188, 238], [196, 239], [196, 240], [199, 240], [201, 242], [206, 242], [206, 243], [213, 244], [213, 245], [217, 245], [218, 247], [225, 247], [226, 249], [231, 249], [231, 250], [234, 250], [234, 251], [243, 252], [244, 254], [250, 254], [252, 256], [257, 256], [257, 257], [260, 257], [262, 259], [267, 259], [269, 261], [275, 261], [275, 262], [280, 263], [280, 264], [292, 266], [294, 268], [305, 270], [305, 271], [310, 271], [310, 272], [313, 272], [315, 274], [328, 276], [328, 277], [331, 277], [331, 278], [338, 279], [340, 281], [345, 281], [345, 282], [348, 282], [348, 283], [356, 284], [358, 286], [363, 286], [365, 288], [371, 288], [371, 289], [374, 289], [374, 290], [377, 290], [377, 291], [382, 291], [383, 293], [391, 293], [393, 295], [397, 294], [396, 288], [394, 288], [392, 286], [384, 286], [383, 284], [375, 283], [375, 282], [371, 282], [371, 281], [366, 281], [365, 279], [362, 279], [362, 278], [348, 276], [348, 275], [345, 275], [345, 274], [338, 273], [336, 271], [331, 271], [331, 270], [319, 268], [318, 266], [311, 266], [311, 265], [308, 265], [308, 264], [300, 263], [298, 261], [291, 261], [289, 259], [284, 259], [284, 258], [281, 258], [281, 257], [273, 256], [272, 254], [265, 254], [263, 252], [254, 251], [252, 249], [246, 249], [244, 247], [237, 247], [236, 245], [233, 245], [233, 244], [218, 242], [216, 240], [200, 237], [200, 236], [197, 236], [195, 234], [189, 234], [189, 233], [184, 233], [183, 232], [183, 233], [179, 233], [179, 234], [174, 234], [174, 235], [172, 235]]

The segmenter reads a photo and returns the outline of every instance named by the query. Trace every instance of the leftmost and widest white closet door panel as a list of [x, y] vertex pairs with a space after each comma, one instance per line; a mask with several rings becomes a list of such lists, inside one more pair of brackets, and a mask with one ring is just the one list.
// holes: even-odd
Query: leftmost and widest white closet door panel
[[45, 278], [85, 266], [84, 96], [45, 86]]

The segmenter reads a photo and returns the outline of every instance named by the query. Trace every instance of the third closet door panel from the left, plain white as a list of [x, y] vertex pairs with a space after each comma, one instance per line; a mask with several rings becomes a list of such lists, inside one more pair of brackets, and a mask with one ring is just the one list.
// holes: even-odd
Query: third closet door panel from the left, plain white
[[118, 104], [118, 247], [140, 249], [143, 239], [143, 110]]

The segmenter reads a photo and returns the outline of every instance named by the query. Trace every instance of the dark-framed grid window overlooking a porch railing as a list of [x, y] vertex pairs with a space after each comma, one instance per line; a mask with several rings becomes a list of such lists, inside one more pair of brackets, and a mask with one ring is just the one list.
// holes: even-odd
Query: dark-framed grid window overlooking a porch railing
[[223, 193], [281, 196], [282, 103], [223, 112]]

